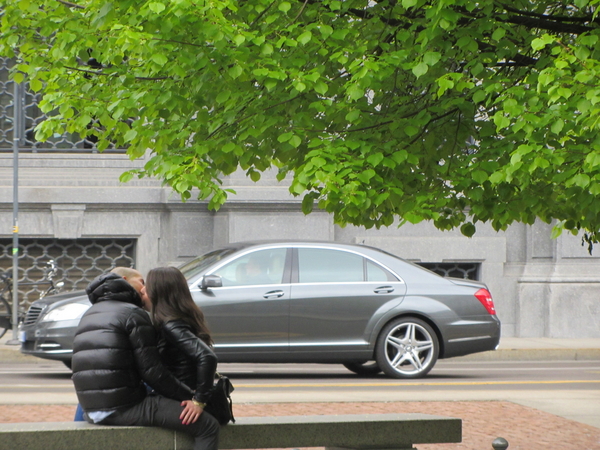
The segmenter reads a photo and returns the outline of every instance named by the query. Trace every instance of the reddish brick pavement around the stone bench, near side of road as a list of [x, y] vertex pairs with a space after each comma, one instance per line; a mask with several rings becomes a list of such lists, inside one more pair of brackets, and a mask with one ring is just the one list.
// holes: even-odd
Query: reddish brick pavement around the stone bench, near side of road
[[[73, 419], [73, 405], [0, 405], [0, 423], [61, 422]], [[490, 450], [501, 436], [510, 450], [600, 450], [600, 429], [505, 401], [269, 403], [236, 404], [244, 416], [424, 413], [463, 420], [460, 444], [418, 445], [419, 450]]]

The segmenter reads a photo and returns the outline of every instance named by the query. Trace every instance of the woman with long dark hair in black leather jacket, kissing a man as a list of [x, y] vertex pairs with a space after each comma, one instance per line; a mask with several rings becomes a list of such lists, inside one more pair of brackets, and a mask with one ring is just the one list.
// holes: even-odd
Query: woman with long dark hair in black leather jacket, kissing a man
[[217, 357], [204, 314], [194, 303], [187, 281], [175, 267], [157, 267], [146, 276], [146, 294], [158, 330], [165, 366], [194, 393], [200, 416], [214, 386]]

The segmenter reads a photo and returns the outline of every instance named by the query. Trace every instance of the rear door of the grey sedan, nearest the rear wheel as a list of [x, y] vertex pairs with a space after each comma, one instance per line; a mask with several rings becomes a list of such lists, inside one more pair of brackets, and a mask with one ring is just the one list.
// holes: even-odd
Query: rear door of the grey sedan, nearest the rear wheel
[[292, 352], [364, 351], [376, 318], [406, 292], [390, 271], [351, 251], [299, 247], [293, 261]]

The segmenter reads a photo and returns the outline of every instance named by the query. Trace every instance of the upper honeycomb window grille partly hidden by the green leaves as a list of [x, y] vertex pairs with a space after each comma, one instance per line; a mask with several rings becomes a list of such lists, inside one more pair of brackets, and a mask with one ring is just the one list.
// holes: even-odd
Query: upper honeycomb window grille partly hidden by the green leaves
[[[76, 133], [55, 135], [46, 142], [35, 139], [35, 127], [47, 117], [38, 106], [41, 95], [30, 91], [26, 83], [19, 84], [15, 91], [15, 83], [8, 76], [13, 65], [11, 59], [0, 57], [0, 152], [13, 151], [14, 118], [18, 117], [19, 152], [98, 153], [93, 137], [84, 138]], [[15, 98], [18, 99], [16, 102]], [[90, 126], [94, 125], [90, 123]], [[124, 153], [125, 149], [109, 146], [103, 152]]]

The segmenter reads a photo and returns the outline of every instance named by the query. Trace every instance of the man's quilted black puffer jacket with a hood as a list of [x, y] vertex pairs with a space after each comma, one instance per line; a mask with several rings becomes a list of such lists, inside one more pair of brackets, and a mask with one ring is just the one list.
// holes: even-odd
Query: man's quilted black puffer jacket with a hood
[[73, 384], [84, 411], [127, 408], [159, 394], [190, 400], [192, 391], [161, 363], [156, 331], [136, 290], [122, 277], [103, 274], [87, 287], [92, 307], [73, 342]]

